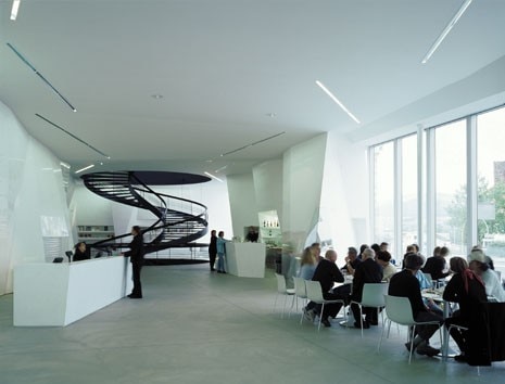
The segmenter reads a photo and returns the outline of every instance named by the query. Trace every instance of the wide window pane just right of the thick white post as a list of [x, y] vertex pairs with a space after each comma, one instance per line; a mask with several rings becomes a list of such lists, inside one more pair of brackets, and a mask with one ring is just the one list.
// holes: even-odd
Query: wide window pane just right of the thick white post
[[[435, 129], [435, 245], [467, 254], [466, 120]], [[428, 249], [431, 251], [431, 249]]]

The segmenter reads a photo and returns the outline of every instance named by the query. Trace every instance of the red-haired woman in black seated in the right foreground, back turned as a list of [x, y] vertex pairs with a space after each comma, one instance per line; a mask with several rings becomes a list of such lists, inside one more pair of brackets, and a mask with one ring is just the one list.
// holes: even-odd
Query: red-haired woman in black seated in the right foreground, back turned
[[[445, 327], [457, 324], [468, 328], [474, 313], [482, 312], [482, 303], [488, 300], [484, 283], [468, 268], [468, 264], [463, 257], [453, 257], [450, 266], [454, 274], [445, 286], [443, 298], [447, 302], [458, 303], [459, 309], [445, 320]], [[454, 360], [466, 361], [466, 354], [470, 347], [468, 331], [453, 328], [451, 336], [460, 350], [460, 355], [455, 356]]]

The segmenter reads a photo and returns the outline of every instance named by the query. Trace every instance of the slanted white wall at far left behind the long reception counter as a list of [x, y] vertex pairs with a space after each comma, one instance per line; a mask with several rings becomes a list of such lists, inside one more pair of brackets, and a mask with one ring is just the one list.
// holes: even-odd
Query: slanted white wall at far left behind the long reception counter
[[[0, 102], [0, 294], [12, 270], [45, 261], [45, 236], [73, 244], [60, 159], [31, 138]], [[46, 226], [45, 226], [46, 223]]]

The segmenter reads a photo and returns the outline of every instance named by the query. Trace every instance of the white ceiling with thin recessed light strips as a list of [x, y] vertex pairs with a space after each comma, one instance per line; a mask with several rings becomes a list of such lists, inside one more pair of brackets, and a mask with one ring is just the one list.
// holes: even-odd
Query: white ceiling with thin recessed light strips
[[359, 141], [504, 93], [503, 0], [475, 0], [420, 64], [462, 2], [22, 0], [11, 22], [0, 0], [0, 100], [74, 169], [243, 171], [325, 131]]

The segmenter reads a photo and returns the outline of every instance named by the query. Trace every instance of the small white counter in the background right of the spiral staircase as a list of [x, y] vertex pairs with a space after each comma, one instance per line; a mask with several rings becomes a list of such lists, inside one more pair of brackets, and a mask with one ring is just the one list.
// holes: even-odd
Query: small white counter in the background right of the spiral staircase
[[241, 278], [265, 277], [265, 244], [226, 243], [228, 273]]

